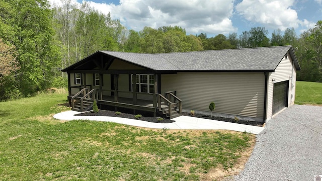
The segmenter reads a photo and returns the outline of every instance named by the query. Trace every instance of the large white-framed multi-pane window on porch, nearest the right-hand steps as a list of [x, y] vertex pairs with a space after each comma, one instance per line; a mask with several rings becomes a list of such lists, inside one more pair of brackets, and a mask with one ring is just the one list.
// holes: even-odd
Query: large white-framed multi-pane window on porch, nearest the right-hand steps
[[[132, 76], [133, 77], [133, 74]], [[133, 79], [131, 78], [132, 91]], [[136, 74], [136, 92], [138, 93], [154, 93], [154, 75]]]

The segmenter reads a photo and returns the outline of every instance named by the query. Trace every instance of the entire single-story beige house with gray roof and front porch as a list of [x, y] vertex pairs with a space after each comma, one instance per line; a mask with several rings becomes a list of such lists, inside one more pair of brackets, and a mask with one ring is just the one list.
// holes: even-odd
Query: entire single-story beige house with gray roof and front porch
[[68, 100], [84, 111], [181, 112], [265, 122], [294, 104], [299, 63], [292, 46], [143, 54], [97, 51], [62, 71]]

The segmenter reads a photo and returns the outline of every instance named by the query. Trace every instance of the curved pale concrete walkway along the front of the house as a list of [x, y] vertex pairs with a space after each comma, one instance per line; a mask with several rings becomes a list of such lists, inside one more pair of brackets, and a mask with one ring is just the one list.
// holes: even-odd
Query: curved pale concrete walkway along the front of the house
[[203, 118], [195, 118], [190, 116], [180, 116], [172, 119], [174, 123], [151, 123], [147, 121], [141, 121], [136, 119], [127, 119], [119, 117], [109, 116], [74, 116], [79, 114], [76, 111], [66, 111], [54, 115], [55, 119], [59, 120], [92, 120], [92, 121], [107, 121], [120, 124], [126, 124], [130, 126], [138, 126], [144, 128], [156, 128], [156, 129], [222, 129], [232, 130], [240, 132], [249, 132], [252, 134], [259, 134], [263, 131], [264, 127], [250, 126], [237, 123], [229, 123], [224, 121], [209, 120]]

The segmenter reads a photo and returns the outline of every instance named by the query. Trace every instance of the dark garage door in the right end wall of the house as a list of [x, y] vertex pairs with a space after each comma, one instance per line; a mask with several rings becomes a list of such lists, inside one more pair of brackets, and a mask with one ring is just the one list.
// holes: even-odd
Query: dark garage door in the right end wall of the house
[[274, 83], [273, 88], [273, 115], [287, 107], [288, 80]]

